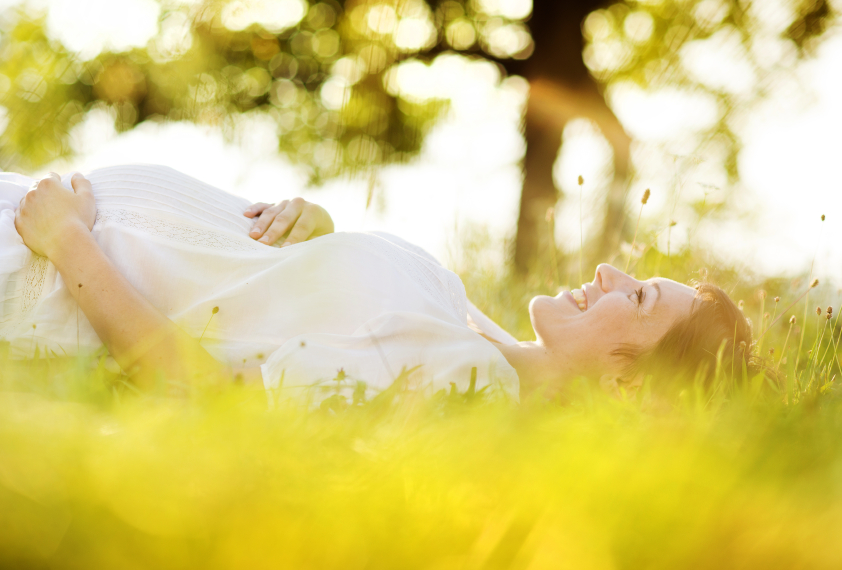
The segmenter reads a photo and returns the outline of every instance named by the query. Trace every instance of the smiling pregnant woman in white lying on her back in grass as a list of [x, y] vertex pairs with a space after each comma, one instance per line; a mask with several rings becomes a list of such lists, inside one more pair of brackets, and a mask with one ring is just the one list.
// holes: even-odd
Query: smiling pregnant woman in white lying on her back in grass
[[474, 374], [515, 399], [579, 376], [633, 389], [655, 360], [710, 368], [723, 343], [749, 358], [736, 349], [749, 324], [710, 285], [600, 265], [581, 289], [533, 299], [536, 340], [517, 342], [423, 250], [332, 231], [300, 199], [249, 206], [161, 166], [0, 174], [0, 340], [17, 358], [104, 344], [140, 384], [236, 373], [306, 398], [371, 397], [399, 377], [464, 391]]

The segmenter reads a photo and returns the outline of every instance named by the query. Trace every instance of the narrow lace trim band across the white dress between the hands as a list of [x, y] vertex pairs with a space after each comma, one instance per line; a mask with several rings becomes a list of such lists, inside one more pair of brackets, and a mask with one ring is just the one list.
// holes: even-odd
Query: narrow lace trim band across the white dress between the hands
[[170, 222], [155, 216], [149, 216], [123, 209], [99, 209], [96, 214], [94, 229], [104, 223], [113, 222], [120, 226], [134, 228], [146, 233], [197, 247], [206, 247], [225, 251], [258, 251], [265, 245], [247, 237], [238, 238], [227, 232], [202, 228], [193, 224]]

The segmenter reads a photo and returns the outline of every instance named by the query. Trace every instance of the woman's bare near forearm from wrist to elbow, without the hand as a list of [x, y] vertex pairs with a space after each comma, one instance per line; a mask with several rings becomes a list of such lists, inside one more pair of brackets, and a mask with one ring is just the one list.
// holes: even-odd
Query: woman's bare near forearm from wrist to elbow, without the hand
[[87, 228], [66, 235], [49, 257], [111, 356], [139, 384], [161, 377], [216, 379], [227, 372], [132, 287]]

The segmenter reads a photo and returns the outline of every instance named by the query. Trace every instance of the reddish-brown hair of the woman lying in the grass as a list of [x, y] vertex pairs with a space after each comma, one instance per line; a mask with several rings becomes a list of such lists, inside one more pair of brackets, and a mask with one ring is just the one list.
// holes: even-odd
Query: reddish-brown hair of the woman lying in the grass
[[[676, 321], [649, 347], [622, 345], [613, 354], [628, 364], [625, 378], [640, 374], [657, 377], [658, 391], [680, 389], [701, 379], [709, 388], [717, 366], [725, 374], [750, 376], [763, 372], [763, 361], [753, 354], [751, 321], [721, 288], [710, 283], [695, 286], [690, 314]], [[773, 378], [777, 381], [776, 378]]]

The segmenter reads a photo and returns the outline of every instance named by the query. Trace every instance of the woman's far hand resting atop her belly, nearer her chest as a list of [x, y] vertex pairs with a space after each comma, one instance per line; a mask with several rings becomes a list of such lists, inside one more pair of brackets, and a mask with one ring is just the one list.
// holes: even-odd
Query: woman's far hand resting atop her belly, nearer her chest
[[249, 236], [260, 243], [272, 245], [289, 234], [281, 247], [333, 233], [333, 220], [321, 206], [304, 198], [284, 200], [277, 204], [258, 202], [249, 206], [244, 215], [257, 219]]

